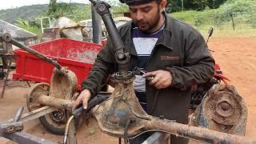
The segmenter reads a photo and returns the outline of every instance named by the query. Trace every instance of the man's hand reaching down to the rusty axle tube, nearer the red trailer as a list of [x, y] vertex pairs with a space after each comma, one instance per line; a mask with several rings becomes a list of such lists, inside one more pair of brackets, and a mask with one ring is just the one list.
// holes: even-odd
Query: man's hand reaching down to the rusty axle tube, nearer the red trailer
[[74, 103], [73, 110], [75, 110], [80, 103], [82, 103], [83, 109], [87, 109], [87, 103], [89, 99], [90, 90], [82, 90], [82, 92], [78, 96], [78, 99]]

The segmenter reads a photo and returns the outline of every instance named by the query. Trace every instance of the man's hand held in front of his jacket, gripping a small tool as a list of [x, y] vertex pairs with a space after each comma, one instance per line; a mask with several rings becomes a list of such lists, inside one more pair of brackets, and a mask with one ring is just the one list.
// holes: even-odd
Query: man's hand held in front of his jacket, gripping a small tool
[[150, 85], [156, 87], [157, 89], [165, 89], [166, 87], [170, 86], [172, 81], [170, 71], [166, 70], [148, 72], [143, 74], [142, 77], [154, 77], [154, 79], [150, 81]]

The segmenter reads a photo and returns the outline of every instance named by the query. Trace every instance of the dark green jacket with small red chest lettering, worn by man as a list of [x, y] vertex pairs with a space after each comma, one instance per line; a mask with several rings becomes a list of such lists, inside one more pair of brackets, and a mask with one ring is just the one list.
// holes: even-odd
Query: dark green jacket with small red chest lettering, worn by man
[[[147, 64], [147, 71], [168, 70], [173, 82], [170, 87], [160, 90], [158, 95], [154, 86], [146, 84], [148, 110], [154, 116], [162, 115], [164, 118], [186, 123], [191, 86], [210, 80], [214, 74], [214, 59], [198, 31], [168, 16], [165, 22], [165, 28]], [[126, 51], [130, 52], [130, 70], [138, 64], [131, 39], [132, 25], [132, 22], [127, 22], [118, 28]], [[108, 75], [118, 71], [114, 58], [114, 47], [109, 40], [98, 54], [90, 74], [82, 82], [82, 89], [90, 90], [92, 95], [97, 94]]]

